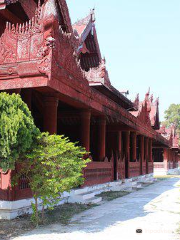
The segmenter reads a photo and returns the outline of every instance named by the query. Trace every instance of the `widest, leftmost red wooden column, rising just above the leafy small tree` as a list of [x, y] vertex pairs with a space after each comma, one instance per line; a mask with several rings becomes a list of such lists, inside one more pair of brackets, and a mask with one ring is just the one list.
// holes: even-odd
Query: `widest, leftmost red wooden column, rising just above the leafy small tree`
[[58, 99], [56, 97], [44, 98], [44, 131], [50, 134], [57, 133], [57, 107]]

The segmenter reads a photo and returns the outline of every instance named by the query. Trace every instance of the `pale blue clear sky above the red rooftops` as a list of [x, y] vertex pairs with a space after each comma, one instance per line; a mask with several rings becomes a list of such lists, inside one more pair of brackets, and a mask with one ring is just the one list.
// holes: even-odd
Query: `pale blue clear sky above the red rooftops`
[[96, 29], [111, 83], [160, 98], [160, 118], [180, 104], [179, 0], [67, 0], [72, 22], [95, 7]]

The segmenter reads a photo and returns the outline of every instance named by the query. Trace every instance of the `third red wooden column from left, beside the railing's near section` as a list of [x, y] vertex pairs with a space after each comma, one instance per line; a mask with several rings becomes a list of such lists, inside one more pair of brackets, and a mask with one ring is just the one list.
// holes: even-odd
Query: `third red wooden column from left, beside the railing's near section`
[[106, 119], [98, 120], [98, 160], [103, 161], [106, 156]]

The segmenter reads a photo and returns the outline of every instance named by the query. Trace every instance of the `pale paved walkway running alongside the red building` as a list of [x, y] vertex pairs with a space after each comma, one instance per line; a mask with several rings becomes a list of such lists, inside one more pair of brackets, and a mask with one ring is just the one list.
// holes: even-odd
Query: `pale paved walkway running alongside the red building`
[[[53, 224], [16, 240], [176, 240], [180, 181], [157, 182], [76, 215], [69, 226]], [[179, 226], [178, 226], [179, 224]], [[136, 229], [142, 229], [141, 234]]]

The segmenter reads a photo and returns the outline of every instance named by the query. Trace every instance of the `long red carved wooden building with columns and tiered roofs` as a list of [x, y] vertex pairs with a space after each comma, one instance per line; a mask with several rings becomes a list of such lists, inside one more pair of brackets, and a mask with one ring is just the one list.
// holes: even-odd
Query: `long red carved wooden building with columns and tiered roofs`
[[[158, 100], [131, 102], [111, 85], [93, 11], [72, 25], [65, 0], [0, 0], [0, 91], [19, 93], [41, 131], [91, 152], [86, 186], [153, 173], [157, 149], [176, 152], [176, 167], [179, 146], [157, 132]], [[31, 197], [12, 174], [0, 173], [0, 200]]]

